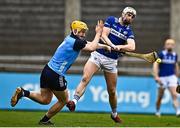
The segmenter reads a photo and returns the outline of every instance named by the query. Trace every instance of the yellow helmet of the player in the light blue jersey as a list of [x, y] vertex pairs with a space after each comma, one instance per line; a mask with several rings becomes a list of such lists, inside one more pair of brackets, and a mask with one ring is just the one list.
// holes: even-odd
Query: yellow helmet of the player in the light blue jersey
[[71, 30], [74, 31], [76, 30], [77, 32], [80, 32], [82, 30], [85, 30], [87, 31], [88, 30], [88, 27], [87, 27], [87, 24], [82, 22], [82, 21], [78, 21], [78, 20], [75, 20], [71, 23]]

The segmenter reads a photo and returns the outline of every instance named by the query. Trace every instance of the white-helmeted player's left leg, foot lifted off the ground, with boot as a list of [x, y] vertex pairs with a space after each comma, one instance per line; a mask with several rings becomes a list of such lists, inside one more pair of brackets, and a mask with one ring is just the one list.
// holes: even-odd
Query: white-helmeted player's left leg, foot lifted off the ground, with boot
[[84, 94], [84, 92], [86, 90], [87, 84], [91, 80], [93, 74], [98, 69], [99, 69], [99, 66], [94, 64], [94, 62], [92, 62], [91, 60], [87, 61], [87, 63], [84, 66], [82, 79], [81, 79], [79, 85], [76, 88], [76, 91], [75, 91], [75, 94], [74, 94], [74, 98], [73, 98], [72, 101], [69, 101], [67, 103], [67, 107], [69, 108], [70, 111], [74, 111], [75, 110], [76, 103], [78, 102], [80, 97]]

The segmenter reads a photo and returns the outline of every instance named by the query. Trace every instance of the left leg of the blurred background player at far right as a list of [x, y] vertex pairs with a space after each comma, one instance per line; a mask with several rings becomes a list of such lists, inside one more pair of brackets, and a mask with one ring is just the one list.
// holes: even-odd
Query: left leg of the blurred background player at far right
[[160, 107], [161, 107], [161, 101], [164, 95], [164, 90], [165, 88], [163, 87], [158, 87], [158, 96], [157, 96], [157, 100], [156, 100], [156, 116], [160, 117], [161, 113], [160, 113]]

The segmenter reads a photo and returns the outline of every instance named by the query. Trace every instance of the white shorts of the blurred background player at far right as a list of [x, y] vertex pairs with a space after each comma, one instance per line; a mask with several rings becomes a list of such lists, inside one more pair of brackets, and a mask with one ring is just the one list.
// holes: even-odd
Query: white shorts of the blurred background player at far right
[[[176, 87], [178, 84], [178, 78], [176, 75], [160, 77], [163, 88]], [[158, 85], [160, 87], [160, 85]]]

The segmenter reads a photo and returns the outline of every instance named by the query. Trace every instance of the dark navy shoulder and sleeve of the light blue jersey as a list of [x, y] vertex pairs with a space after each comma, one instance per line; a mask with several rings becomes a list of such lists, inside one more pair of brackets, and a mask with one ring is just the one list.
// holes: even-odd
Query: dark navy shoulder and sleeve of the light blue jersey
[[79, 39], [76, 35], [74, 35], [73, 33], [71, 33], [70, 35], [72, 38], [76, 39], [75, 40], [75, 43], [74, 43], [74, 46], [73, 46], [73, 49], [75, 51], [80, 51], [81, 49], [83, 49], [86, 44], [87, 44], [87, 41], [86, 40], [82, 40], [82, 39]]

